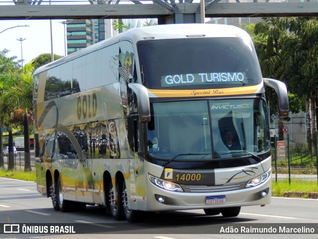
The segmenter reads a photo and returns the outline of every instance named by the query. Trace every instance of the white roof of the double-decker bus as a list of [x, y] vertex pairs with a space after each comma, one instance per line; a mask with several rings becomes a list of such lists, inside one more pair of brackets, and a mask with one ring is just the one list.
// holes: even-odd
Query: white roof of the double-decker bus
[[71, 55], [63, 57], [57, 61], [48, 63], [47, 65], [38, 68], [34, 72], [34, 75], [122, 40], [130, 40], [136, 43], [137, 41], [147, 39], [177, 39], [192, 37], [249, 38], [249, 35], [239, 27], [222, 24], [167, 24], [134, 28], [72, 53]]

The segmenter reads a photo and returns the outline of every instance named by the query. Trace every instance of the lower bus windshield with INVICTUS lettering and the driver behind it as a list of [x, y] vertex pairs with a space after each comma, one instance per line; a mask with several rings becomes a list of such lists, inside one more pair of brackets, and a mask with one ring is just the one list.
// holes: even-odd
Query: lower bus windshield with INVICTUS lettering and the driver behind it
[[263, 98], [158, 102], [151, 108], [147, 135], [153, 159], [177, 162], [246, 158], [270, 149]]

